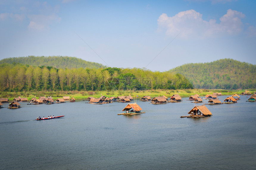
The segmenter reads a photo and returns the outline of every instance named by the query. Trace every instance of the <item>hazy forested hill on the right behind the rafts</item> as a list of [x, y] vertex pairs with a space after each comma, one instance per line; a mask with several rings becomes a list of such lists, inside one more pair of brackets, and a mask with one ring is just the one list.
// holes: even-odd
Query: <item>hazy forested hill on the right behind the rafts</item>
[[184, 64], [169, 72], [182, 74], [189, 79], [194, 88], [256, 88], [256, 65], [233, 59]]

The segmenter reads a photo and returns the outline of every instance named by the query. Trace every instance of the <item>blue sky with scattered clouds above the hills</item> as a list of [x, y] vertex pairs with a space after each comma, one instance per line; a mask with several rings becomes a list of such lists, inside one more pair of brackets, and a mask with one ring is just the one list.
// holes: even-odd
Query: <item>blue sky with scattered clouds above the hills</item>
[[256, 64], [256, 1], [3, 1], [0, 60], [71, 56], [166, 71], [232, 58]]

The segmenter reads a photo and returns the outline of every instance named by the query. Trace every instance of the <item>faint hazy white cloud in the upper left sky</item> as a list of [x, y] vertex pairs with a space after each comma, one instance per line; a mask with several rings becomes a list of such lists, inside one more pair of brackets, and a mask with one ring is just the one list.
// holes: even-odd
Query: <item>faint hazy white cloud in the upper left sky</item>
[[29, 29], [35, 29], [38, 31], [48, 30], [49, 24], [52, 22], [60, 22], [61, 18], [56, 14], [52, 15], [29, 15]]

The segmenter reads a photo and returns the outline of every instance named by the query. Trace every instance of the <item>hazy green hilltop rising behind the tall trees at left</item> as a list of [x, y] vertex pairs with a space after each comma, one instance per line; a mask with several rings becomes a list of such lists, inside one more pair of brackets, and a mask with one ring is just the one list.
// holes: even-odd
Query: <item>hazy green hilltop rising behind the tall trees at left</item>
[[67, 56], [28, 56], [28, 57], [13, 57], [5, 58], [0, 60], [0, 64], [4, 63], [20, 63], [22, 65], [32, 65], [32, 66], [51, 66], [55, 68], [106, 68], [106, 66], [96, 63], [89, 62], [77, 57], [67, 57]]

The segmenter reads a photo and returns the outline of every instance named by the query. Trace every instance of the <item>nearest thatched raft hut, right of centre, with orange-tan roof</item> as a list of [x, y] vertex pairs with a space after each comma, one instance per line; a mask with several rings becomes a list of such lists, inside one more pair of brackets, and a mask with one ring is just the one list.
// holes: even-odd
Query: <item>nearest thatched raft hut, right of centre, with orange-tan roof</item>
[[191, 109], [188, 114], [189, 116], [180, 116], [181, 118], [202, 118], [207, 116], [212, 116], [212, 113], [205, 105], [195, 106]]

